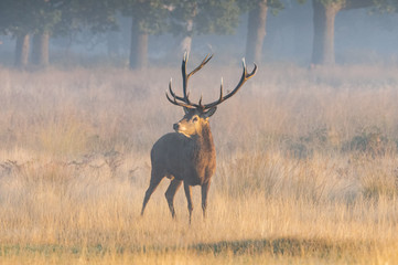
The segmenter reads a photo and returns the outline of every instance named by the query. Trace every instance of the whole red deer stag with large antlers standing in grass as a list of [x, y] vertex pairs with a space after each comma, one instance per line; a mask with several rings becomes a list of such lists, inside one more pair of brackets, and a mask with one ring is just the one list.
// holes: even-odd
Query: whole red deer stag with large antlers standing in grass
[[224, 96], [222, 81], [219, 98], [217, 100], [209, 104], [202, 104], [201, 97], [198, 104], [192, 103], [189, 98], [187, 82], [193, 74], [200, 71], [212, 59], [212, 56], [207, 55], [195, 70], [190, 74], [186, 74], [187, 53], [184, 54], [181, 66], [183, 78], [182, 97], [175, 95], [171, 87], [170, 80], [169, 92], [171, 97], [168, 93], [165, 96], [172, 104], [183, 107], [185, 115], [179, 123], [173, 125], [175, 132], [162, 136], [152, 147], [151, 180], [143, 199], [141, 215], [160, 181], [164, 177], [168, 177], [171, 179], [171, 183], [165, 192], [165, 198], [172, 218], [175, 218], [174, 195], [183, 182], [190, 212], [190, 223], [193, 210], [192, 186], [202, 187], [202, 209], [203, 216], [206, 218], [207, 192], [212, 176], [216, 168], [216, 151], [208, 125], [208, 117], [216, 112], [218, 104], [234, 96], [245, 82], [251, 78], [257, 71], [257, 65], [255, 64], [252, 72], [247, 73], [244, 60], [244, 73], [235, 89]]

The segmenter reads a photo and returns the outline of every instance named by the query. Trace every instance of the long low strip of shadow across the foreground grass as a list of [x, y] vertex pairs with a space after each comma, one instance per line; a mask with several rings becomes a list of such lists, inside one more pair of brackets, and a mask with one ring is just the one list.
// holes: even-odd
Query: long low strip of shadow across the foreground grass
[[36, 253], [45, 256], [53, 254], [64, 255], [72, 254], [75, 256], [94, 255], [101, 256], [106, 253], [116, 254], [152, 254], [152, 253], [178, 253], [192, 252], [196, 254], [213, 254], [215, 256], [223, 254], [234, 255], [252, 255], [252, 254], [270, 254], [277, 256], [340, 256], [349, 252], [370, 252], [373, 250], [370, 243], [364, 242], [332, 242], [318, 239], [294, 239], [281, 237], [272, 240], [243, 240], [243, 241], [220, 241], [216, 243], [198, 243], [187, 246], [161, 246], [161, 245], [130, 245], [130, 246], [112, 246], [97, 244], [92, 246], [62, 246], [62, 245], [0, 245], [1, 256], [19, 256], [28, 253]]

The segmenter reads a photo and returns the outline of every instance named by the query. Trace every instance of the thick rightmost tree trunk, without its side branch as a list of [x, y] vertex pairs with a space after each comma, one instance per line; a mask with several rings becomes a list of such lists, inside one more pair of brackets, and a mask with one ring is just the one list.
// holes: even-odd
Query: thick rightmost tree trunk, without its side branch
[[323, 4], [312, 1], [314, 36], [312, 46], [313, 64], [334, 64], [334, 19], [342, 9], [341, 4]]

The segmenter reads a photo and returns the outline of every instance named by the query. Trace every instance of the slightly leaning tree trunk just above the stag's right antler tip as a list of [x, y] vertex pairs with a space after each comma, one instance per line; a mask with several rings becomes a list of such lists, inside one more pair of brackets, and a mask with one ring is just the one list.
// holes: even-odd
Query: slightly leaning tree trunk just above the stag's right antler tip
[[246, 60], [248, 62], [261, 62], [262, 43], [266, 36], [267, 0], [258, 3], [258, 7], [249, 12], [246, 39]]

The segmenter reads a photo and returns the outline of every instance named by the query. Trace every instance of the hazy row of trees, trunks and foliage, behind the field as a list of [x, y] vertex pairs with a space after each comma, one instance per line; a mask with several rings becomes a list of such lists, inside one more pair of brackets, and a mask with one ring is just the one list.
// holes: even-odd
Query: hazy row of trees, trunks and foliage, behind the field
[[[312, 50], [309, 63], [334, 64], [340, 14], [366, 9], [366, 17], [391, 15], [397, 7], [398, 0], [1, 0], [0, 34], [14, 41], [14, 65], [20, 68], [49, 65], [52, 40], [64, 40], [71, 45], [77, 36], [106, 35], [108, 52], [118, 53], [122, 42], [118, 32], [126, 32], [126, 28], [131, 68], [148, 65], [148, 54], [157, 52], [150, 51], [153, 36], [179, 40], [165, 45], [166, 57], [190, 51], [194, 36], [237, 32], [241, 35], [239, 44], [245, 45], [243, 55], [248, 62], [260, 64], [266, 61], [266, 46], [277, 39], [278, 29], [290, 23], [291, 40], [298, 43], [303, 39], [302, 32], [311, 26], [311, 33], [305, 34]], [[277, 17], [279, 24], [271, 23]], [[364, 26], [366, 17], [362, 18]], [[349, 23], [355, 21], [346, 26]], [[394, 28], [394, 22], [379, 26]], [[301, 50], [304, 45], [298, 44], [295, 52], [303, 53]]]

